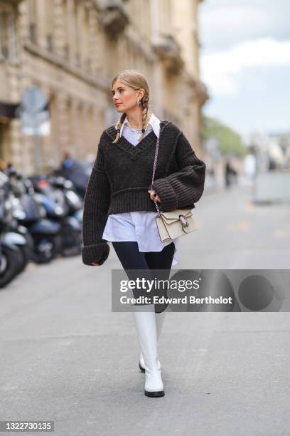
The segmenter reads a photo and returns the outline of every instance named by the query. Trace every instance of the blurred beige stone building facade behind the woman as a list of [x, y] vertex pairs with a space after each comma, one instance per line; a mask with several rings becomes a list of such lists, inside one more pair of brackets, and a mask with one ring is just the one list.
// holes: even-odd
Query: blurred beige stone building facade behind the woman
[[28, 86], [49, 103], [41, 137], [43, 171], [63, 153], [95, 156], [102, 130], [117, 121], [111, 81], [136, 68], [149, 107], [186, 133], [202, 157], [200, 109], [208, 99], [198, 67], [199, 0], [0, 0], [0, 159], [35, 170], [33, 137], [11, 115]]

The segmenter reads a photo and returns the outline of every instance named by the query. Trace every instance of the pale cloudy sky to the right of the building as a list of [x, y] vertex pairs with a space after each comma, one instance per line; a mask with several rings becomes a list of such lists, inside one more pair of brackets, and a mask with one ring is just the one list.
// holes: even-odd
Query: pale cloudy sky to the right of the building
[[290, 0], [199, 6], [203, 113], [247, 137], [290, 133]]

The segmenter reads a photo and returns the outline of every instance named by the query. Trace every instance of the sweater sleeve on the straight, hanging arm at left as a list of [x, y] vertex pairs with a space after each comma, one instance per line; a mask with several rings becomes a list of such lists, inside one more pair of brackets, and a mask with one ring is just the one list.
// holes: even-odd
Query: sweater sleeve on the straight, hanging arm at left
[[92, 265], [92, 262], [102, 265], [109, 256], [109, 244], [102, 239], [107, 222], [109, 201], [109, 180], [104, 171], [104, 157], [101, 145], [99, 144], [97, 157], [85, 192], [82, 217], [82, 237], [84, 243], [82, 247], [82, 262], [85, 265]]

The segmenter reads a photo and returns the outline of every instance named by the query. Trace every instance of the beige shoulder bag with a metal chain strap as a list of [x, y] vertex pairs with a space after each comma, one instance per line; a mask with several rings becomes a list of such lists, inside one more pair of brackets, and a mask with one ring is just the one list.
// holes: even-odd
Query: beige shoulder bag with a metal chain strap
[[[157, 155], [159, 149], [159, 137], [156, 142], [156, 152], [154, 158], [154, 168], [151, 182], [151, 190], [153, 190], [154, 175], [156, 170]], [[161, 242], [168, 242], [172, 239], [183, 236], [197, 230], [195, 222], [193, 221], [193, 214], [191, 209], [174, 209], [170, 212], [161, 212], [154, 195], [154, 203], [158, 212], [156, 217], [156, 224], [159, 231]]]

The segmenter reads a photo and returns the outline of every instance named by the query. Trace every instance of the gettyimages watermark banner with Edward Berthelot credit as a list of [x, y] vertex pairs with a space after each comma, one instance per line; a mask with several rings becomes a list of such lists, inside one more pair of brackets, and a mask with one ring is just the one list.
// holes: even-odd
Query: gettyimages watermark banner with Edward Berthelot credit
[[112, 311], [289, 311], [290, 270], [112, 269]]

